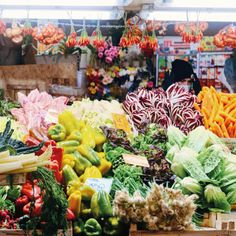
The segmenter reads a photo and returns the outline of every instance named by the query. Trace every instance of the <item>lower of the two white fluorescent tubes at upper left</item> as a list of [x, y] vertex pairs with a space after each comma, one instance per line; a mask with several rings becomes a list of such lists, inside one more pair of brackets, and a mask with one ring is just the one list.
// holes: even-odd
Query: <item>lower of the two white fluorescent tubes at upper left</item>
[[109, 20], [120, 19], [123, 11], [93, 11], [93, 10], [15, 10], [4, 9], [1, 18], [5, 19], [90, 19], [90, 20]]

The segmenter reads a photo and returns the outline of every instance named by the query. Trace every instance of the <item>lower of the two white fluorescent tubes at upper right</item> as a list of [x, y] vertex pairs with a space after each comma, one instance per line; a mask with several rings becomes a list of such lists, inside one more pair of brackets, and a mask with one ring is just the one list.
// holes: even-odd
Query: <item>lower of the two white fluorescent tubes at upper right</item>
[[[235, 11], [141, 11], [141, 16], [148, 20], [159, 21], [209, 21], [236, 22]], [[187, 17], [188, 16], [188, 17]]]

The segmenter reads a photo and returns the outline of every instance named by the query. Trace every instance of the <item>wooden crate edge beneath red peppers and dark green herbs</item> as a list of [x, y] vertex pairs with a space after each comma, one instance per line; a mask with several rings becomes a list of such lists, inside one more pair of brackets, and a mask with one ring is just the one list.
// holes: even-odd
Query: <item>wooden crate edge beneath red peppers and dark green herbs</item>
[[[40, 235], [40, 230], [38, 233]], [[32, 231], [26, 232], [21, 229], [0, 229], [0, 236], [32, 236]], [[69, 227], [65, 233], [62, 229], [59, 229], [57, 231], [57, 236], [73, 236], [72, 224], [69, 224]]]

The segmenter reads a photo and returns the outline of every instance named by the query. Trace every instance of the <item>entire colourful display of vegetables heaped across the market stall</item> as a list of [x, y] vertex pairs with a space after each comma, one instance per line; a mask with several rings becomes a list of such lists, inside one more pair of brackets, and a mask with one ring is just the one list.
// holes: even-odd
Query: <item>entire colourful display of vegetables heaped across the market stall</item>
[[220, 138], [235, 137], [235, 95], [173, 85], [66, 103], [37, 90], [1, 103], [0, 177], [27, 178], [0, 187], [0, 232], [192, 230], [236, 204], [236, 156]]

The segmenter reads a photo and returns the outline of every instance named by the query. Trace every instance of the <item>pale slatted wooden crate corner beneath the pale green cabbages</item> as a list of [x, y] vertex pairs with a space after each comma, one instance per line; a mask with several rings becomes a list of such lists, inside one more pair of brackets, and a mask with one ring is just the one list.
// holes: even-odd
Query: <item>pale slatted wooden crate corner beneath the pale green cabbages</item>
[[217, 230], [236, 230], [236, 212], [204, 214], [202, 226]]

